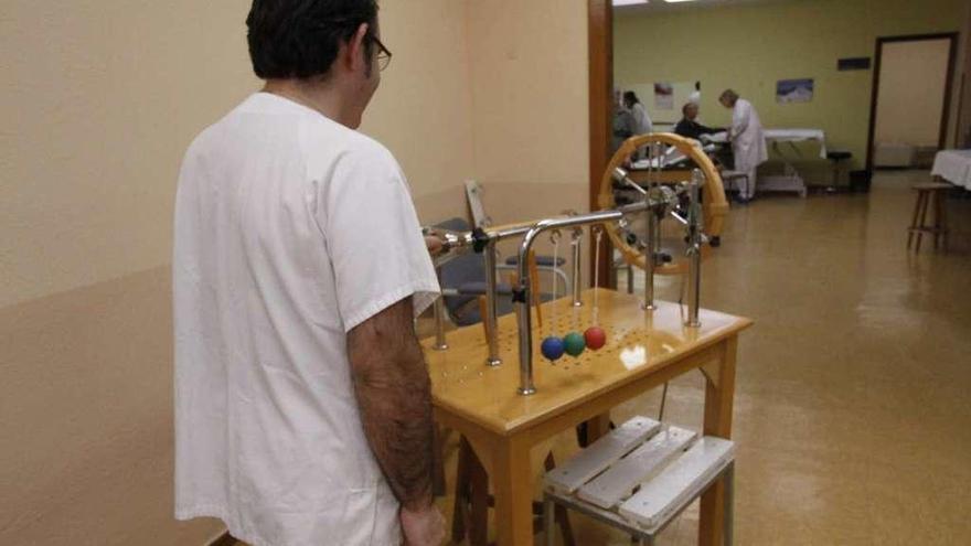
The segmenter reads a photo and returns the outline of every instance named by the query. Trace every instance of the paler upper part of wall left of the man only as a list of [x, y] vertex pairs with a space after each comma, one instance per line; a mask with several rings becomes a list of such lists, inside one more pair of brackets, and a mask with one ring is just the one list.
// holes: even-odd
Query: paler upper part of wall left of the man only
[[169, 261], [182, 153], [255, 86], [245, 13], [4, 0], [0, 307]]

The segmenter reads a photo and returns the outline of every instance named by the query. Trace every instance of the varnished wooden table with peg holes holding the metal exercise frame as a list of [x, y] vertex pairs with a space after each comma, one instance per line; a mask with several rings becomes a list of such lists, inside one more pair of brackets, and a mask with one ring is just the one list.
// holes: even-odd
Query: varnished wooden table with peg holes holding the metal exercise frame
[[[431, 350], [431, 340], [424, 343], [435, 418], [465, 436], [489, 472], [500, 545], [533, 544], [533, 446], [585, 421], [590, 438], [597, 438], [607, 430], [611, 408], [675, 376], [702, 370], [707, 379], [704, 433], [730, 437], [738, 333], [751, 321], [702, 310], [702, 326], [690, 329], [682, 325], [686, 308], [676, 303], [659, 302], [657, 310], [645, 312], [637, 297], [598, 291], [607, 345], [578, 358], [564, 356], [555, 365], [538, 354], [542, 336], [549, 334], [553, 306], [559, 335], [583, 332], [591, 324], [593, 290], [584, 292], [581, 308], [573, 308], [568, 299], [543, 306], [546, 328], [534, 333], [537, 393], [532, 396], [516, 393], [519, 345], [512, 314], [499, 320], [503, 364], [498, 367], [484, 364], [481, 325], [450, 332], [447, 351]], [[723, 494], [719, 482], [702, 497], [703, 545], [721, 544]]]

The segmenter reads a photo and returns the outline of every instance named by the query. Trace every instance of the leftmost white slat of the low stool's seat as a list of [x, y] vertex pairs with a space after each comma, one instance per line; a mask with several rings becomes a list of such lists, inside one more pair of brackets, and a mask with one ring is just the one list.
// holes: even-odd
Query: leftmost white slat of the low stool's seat
[[547, 472], [546, 489], [557, 494], [573, 494], [660, 429], [661, 424], [654, 419], [634, 417], [587, 446], [565, 464]]

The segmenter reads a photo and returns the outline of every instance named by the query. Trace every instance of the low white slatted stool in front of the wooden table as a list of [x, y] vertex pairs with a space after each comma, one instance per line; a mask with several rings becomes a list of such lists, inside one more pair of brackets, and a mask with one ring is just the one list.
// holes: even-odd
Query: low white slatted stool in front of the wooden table
[[567, 507], [628, 533], [641, 545], [658, 534], [716, 481], [724, 479], [723, 542], [733, 544], [735, 445], [634, 417], [555, 470], [544, 488], [548, 515]]

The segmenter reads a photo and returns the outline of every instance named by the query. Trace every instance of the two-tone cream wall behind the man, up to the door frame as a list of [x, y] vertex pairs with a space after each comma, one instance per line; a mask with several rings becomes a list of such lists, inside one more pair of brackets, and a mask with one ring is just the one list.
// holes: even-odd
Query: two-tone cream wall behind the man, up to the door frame
[[[474, 176], [500, 222], [586, 206], [585, 6], [383, 2], [395, 56], [363, 130], [423, 220], [461, 214]], [[171, 516], [170, 233], [185, 147], [258, 85], [247, 8], [4, 1], [0, 544], [221, 529]]]

